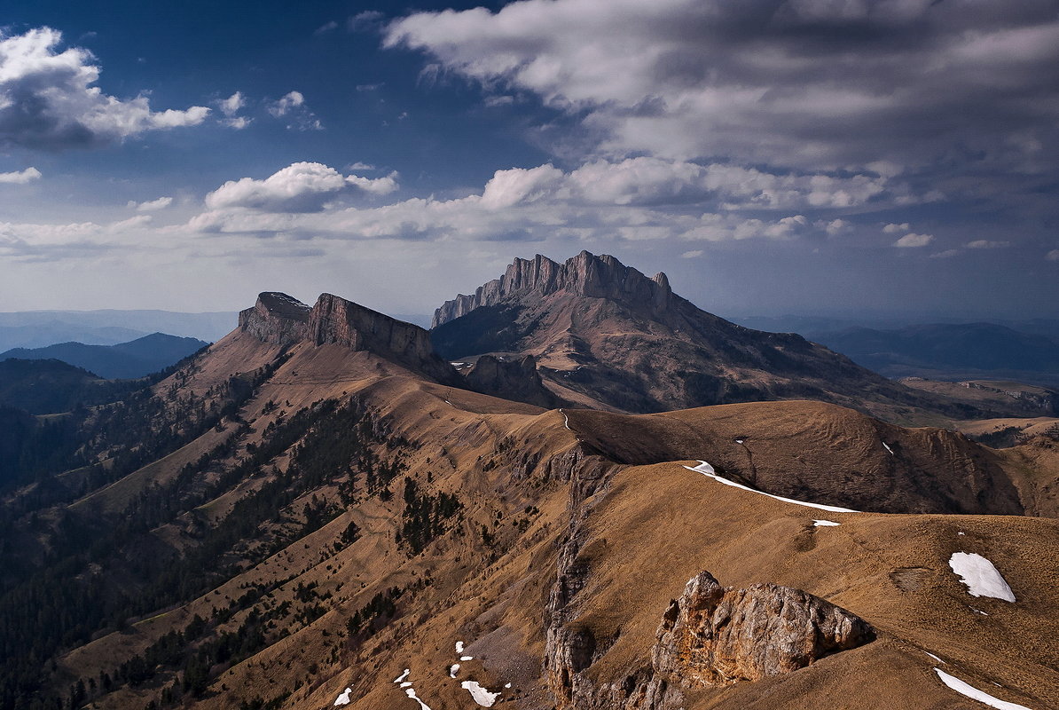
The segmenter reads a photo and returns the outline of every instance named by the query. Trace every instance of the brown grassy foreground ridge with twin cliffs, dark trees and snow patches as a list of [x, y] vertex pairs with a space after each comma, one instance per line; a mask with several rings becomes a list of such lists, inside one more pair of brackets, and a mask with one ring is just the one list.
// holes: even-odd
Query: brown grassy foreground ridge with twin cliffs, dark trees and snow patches
[[238, 322], [0, 497], [0, 707], [1059, 704], [1051, 434], [544, 409], [336, 296]]

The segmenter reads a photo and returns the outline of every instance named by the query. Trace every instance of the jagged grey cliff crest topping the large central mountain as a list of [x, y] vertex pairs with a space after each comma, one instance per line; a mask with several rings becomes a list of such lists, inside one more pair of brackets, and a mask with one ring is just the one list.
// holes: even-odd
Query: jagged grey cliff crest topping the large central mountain
[[665, 310], [672, 298], [669, 279], [664, 273], [647, 278], [610, 254], [595, 255], [582, 250], [562, 264], [541, 254], [516, 259], [499, 279], [480, 286], [472, 296], [460, 295], [446, 301], [431, 326], [447, 323], [481, 306], [496, 305], [514, 294], [535, 294], [543, 298], [564, 291], [586, 298], [605, 298], [636, 307], [648, 306], [652, 313]]

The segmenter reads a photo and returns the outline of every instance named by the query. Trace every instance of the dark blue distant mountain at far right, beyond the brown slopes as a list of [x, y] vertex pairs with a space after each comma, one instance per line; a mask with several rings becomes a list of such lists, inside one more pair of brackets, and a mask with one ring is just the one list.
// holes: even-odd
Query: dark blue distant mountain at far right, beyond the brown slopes
[[995, 323], [854, 327], [813, 338], [891, 377], [1019, 379], [1059, 385], [1059, 342]]

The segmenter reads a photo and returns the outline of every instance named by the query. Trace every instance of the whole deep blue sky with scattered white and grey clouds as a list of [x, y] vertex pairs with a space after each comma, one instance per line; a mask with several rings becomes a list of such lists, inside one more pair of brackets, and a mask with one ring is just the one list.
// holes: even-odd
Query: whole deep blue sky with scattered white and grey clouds
[[8, 0], [0, 310], [1059, 317], [1059, 0]]

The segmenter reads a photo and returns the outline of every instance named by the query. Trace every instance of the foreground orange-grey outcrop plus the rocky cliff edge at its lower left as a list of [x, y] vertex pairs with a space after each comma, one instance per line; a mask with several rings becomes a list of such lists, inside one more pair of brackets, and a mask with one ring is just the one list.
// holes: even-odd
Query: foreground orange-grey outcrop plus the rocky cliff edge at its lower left
[[553, 629], [546, 667], [560, 708], [677, 710], [686, 690], [792, 673], [875, 636], [863, 619], [801, 589], [722, 587], [702, 571], [662, 616], [649, 668], [593, 682], [586, 671], [605, 649], [577, 626]]

